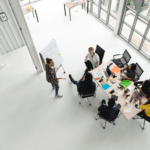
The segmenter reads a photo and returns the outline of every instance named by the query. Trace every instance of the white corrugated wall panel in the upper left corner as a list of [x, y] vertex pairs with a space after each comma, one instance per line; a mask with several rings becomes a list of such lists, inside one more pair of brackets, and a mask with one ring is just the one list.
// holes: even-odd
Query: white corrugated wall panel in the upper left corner
[[22, 34], [7, 4], [7, 0], [0, 0], [0, 13], [5, 12], [8, 20], [0, 20], [0, 53], [5, 54], [25, 45]]

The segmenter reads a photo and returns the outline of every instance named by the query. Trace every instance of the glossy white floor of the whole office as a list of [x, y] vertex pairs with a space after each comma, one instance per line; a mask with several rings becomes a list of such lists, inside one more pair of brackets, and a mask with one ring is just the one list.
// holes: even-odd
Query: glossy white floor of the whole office
[[[37, 74], [27, 48], [5, 54], [7, 67], [0, 69], [0, 149], [1, 150], [141, 150], [149, 148], [150, 125], [146, 129], [143, 121], [129, 121], [123, 115], [113, 126], [94, 116], [100, 101], [107, 96], [100, 88], [96, 99], [80, 98], [76, 87], [70, 83], [68, 74], [76, 80], [83, 75], [84, 58], [89, 46], [99, 44], [106, 50], [104, 62], [113, 54], [127, 49], [132, 62], [138, 62], [144, 69], [141, 80], [149, 78], [149, 61], [128, 45], [112, 30], [86, 14], [81, 7], [72, 10], [72, 21], [64, 16], [63, 1], [43, 0], [33, 4], [40, 23], [32, 14], [26, 17], [37, 51], [40, 52], [55, 38], [64, 58], [66, 74], [60, 69], [57, 76], [66, 77], [60, 81], [62, 99], [54, 98], [52, 87], [45, 80], [45, 72]], [[75, 9], [76, 10], [76, 9]]]

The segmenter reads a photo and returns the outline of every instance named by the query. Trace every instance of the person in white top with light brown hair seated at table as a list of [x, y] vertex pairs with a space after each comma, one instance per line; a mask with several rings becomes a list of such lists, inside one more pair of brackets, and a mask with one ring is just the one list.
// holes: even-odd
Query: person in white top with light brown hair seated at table
[[99, 66], [99, 56], [94, 52], [93, 47], [88, 48], [89, 53], [85, 57], [85, 63], [87, 60], [89, 60], [93, 66], [93, 68], [96, 68]]

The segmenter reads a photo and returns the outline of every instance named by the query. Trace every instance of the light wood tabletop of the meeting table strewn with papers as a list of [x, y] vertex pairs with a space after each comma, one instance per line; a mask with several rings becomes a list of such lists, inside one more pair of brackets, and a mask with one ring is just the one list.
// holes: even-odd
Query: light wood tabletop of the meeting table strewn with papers
[[[95, 81], [96, 81], [96, 83], [101, 87], [101, 89], [106, 93], [106, 95], [107, 95], [109, 98], [111, 98], [111, 95], [116, 95], [116, 96], [118, 96], [118, 100], [116, 101], [116, 103], [119, 103], [119, 104], [121, 105], [120, 111], [122, 112], [122, 114], [124, 115], [124, 117], [125, 117], [127, 120], [129, 120], [129, 119], [133, 118], [135, 115], [137, 115], [139, 112], [141, 112], [142, 110], [141, 110], [141, 109], [137, 109], [137, 108], [135, 108], [135, 106], [134, 106], [135, 104], [139, 104], [139, 100], [137, 100], [137, 101], [134, 100], [134, 98], [137, 96], [137, 94], [136, 94], [135, 92], [128, 92], [127, 94], [129, 94], [130, 96], [126, 98], [126, 94], [124, 93], [124, 89], [118, 89], [118, 85], [119, 85], [120, 82], [121, 82], [121, 77], [120, 77], [120, 75], [123, 75], [123, 76], [126, 76], [126, 75], [125, 75], [124, 73], [121, 73], [120, 71], [115, 74], [115, 75], [117, 76], [116, 78], [113, 78], [113, 76], [111, 75], [111, 76], [110, 76], [110, 80], [114, 79], [114, 81], [116, 82], [116, 83], [114, 83], [114, 84], [112, 84], [111, 81], [107, 81], [106, 78], [103, 78], [103, 81], [102, 81], [102, 82], [99, 82], [99, 80], [100, 80], [101, 77], [102, 77], [102, 72], [105, 71], [104, 67], [105, 67], [106, 65], [109, 65], [110, 63], [113, 63], [113, 64], [110, 66], [110, 70], [111, 70], [113, 67], [116, 66], [116, 64], [115, 64], [114, 62], [112, 62], [112, 61], [109, 61], [109, 62], [107, 62], [107, 63], [105, 63], [105, 64], [102, 64], [102, 65], [100, 65], [99, 67], [93, 69], [92, 71], [90, 71], [90, 73], [92, 74], [93, 71], [97, 71], [97, 72], [98, 72], [98, 74], [100, 75], [100, 78], [99, 78], [98, 80], [95, 79]], [[93, 74], [92, 74], [92, 76], [93, 76]], [[94, 78], [94, 76], [93, 76], [93, 78]], [[107, 83], [107, 84], [110, 86], [110, 88], [108, 88], [107, 90], [104, 90], [104, 89], [102, 88], [102, 85], [104, 85], [105, 83]], [[135, 87], [135, 86], [134, 86], [134, 82], [131, 81], [130, 86], [131, 86], [132, 88], [134, 88], [134, 87]], [[113, 89], [115, 90], [115, 93], [110, 94], [109, 92], [110, 92], [111, 90], [113, 90]], [[129, 101], [130, 101], [131, 97], [133, 98], [132, 102], [131, 102], [131, 103], [130, 103], [130, 102], [129, 102], [129, 103], [126, 103], [126, 100], [129, 100]], [[145, 104], [145, 103], [148, 102], [148, 99], [147, 99], [146, 97], [143, 97], [141, 100], [142, 100], [142, 103], [143, 103], [143, 104]], [[142, 104], [142, 105], [143, 105], [143, 104]], [[123, 111], [124, 108], [130, 108], [131, 112], [130, 112], [130, 113], [124, 113], [124, 111]]]

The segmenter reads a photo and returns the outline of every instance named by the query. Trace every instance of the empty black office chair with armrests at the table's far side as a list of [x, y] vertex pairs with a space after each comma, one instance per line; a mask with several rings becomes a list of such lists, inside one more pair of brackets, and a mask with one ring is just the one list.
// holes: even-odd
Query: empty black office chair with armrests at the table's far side
[[[115, 58], [115, 56], [119, 56], [122, 55], [121, 58]], [[131, 55], [129, 54], [129, 52], [127, 50], [124, 51], [123, 54], [116, 54], [113, 55], [113, 62], [119, 67], [119, 68], [123, 68], [125, 65], [128, 65], [129, 61], [131, 59]]]

